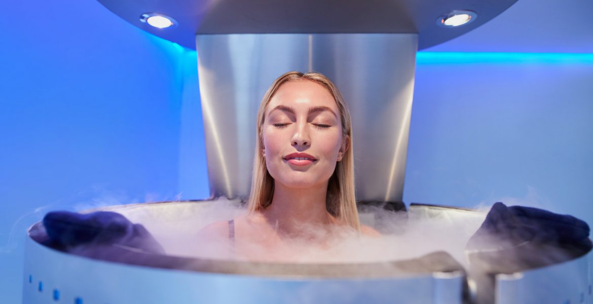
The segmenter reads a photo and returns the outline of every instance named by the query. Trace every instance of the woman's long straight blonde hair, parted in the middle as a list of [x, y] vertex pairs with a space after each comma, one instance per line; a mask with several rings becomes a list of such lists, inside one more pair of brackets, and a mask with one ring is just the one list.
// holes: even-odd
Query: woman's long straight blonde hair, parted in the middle
[[253, 159], [253, 177], [251, 178], [251, 191], [248, 200], [249, 212], [265, 209], [272, 204], [274, 194], [274, 179], [267, 171], [266, 160], [262, 155], [262, 126], [266, 120], [267, 105], [281, 85], [289, 81], [313, 81], [322, 85], [336, 101], [340, 110], [342, 122], [342, 136], [350, 137], [349, 149], [344, 153], [342, 161], [337, 162], [336, 169], [327, 185], [326, 209], [331, 215], [342, 220], [347, 225], [360, 231], [358, 211], [356, 210], [356, 197], [354, 187], [354, 157], [352, 153], [352, 121], [346, 103], [336, 86], [321, 73], [288, 72], [280, 76], [263, 97], [257, 113], [257, 142], [256, 153]]

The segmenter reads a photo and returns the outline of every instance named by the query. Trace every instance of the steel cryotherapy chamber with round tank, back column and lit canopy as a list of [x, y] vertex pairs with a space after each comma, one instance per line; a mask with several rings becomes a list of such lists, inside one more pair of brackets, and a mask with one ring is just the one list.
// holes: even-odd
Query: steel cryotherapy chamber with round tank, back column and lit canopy
[[[200, 216], [235, 216], [203, 213], [218, 197], [238, 206], [248, 196], [257, 108], [267, 87], [288, 71], [324, 73], [344, 95], [361, 207], [401, 204], [417, 50], [466, 33], [515, 2], [99, 1], [149, 33], [197, 49], [211, 199], [101, 209], [141, 223], [161, 243], [162, 229], [184, 233]], [[170, 17], [170, 26], [153, 27], [151, 17]], [[470, 22], [453, 26], [460, 18]], [[372, 226], [374, 216], [361, 208], [363, 223]], [[407, 217], [480, 223], [486, 215], [415, 204]], [[46, 238], [42, 223], [28, 231], [26, 303], [593, 302], [590, 253], [477, 281], [431, 254], [377, 263], [258, 264], [129, 246], [111, 246], [109, 255], [76, 254], [47, 247]], [[435, 260], [441, 263], [429, 263]], [[541, 288], [550, 282], [553, 288]], [[489, 292], [480, 293], [484, 288]]]

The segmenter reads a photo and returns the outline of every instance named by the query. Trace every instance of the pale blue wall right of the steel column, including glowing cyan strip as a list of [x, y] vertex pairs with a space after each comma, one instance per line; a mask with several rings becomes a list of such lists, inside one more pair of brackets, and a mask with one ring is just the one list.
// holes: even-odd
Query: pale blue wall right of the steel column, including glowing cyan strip
[[419, 53], [404, 201], [593, 223], [593, 55]]

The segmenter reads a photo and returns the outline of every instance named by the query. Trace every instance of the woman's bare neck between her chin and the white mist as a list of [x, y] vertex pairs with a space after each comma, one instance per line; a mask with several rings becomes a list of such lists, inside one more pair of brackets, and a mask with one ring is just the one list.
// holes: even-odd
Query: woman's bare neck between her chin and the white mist
[[332, 222], [326, 195], [327, 183], [311, 188], [288, 188], [276, 183], [272, 204], [262, 214], [278, 233], [302, 236], [304, 225], [324, 226]]

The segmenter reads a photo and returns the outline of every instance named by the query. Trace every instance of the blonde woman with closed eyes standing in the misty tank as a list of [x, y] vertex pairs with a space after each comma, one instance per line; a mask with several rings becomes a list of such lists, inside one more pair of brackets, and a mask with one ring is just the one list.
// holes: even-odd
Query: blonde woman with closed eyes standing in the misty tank
[[200, 241], [224, 240], [235, 258], [294, 261], [345, 235], [380, 236], [359, 223], [353, 169], [350, 114], [336, 86], [320, 73], [285, 73], [257, 114], [248, 213], [206, 226]]

